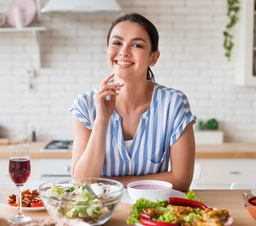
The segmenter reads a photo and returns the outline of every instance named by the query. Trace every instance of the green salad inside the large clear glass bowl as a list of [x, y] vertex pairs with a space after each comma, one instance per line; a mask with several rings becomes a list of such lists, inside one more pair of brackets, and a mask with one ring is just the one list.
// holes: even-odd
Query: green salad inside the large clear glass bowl
[[[103, 188], [99, 184], [92, 184], [91, 187], [96, 195], [103, 194]], [[96, 198], [83, 185], [65, 189], [52, 185], [50, 189], [46, 190], [46, 198], [49, 200], [47, 206], [54, 216], [81, 219], [86, 222], [97, 222], [104, 219], [111, 213], [113, 205], [115, 205], [115, 202], [106, 203], [108, 199], [106, 197], [102, 197], [103, 201]]]

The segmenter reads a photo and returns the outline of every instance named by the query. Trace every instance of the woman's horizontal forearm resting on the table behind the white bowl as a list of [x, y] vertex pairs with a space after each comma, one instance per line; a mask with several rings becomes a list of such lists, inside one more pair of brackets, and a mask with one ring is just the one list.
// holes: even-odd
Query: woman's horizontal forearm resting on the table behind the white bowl
[[140, 180], [160, 180], [170, 182], [173, 185], [173, 189], [179, 191], [187, 191], [191, 184], [191, 179], [186, 178], [177, 178], [175, 175], [170, 172], [164, 173], [155, 173], [155, 174], [147, 174], [141, 176], [114, 176], [114, 177], [104, 177], [111, 180], [116, 180], [124, 184], [124, 187], [127, 188], [127, 184], [133, 181]]

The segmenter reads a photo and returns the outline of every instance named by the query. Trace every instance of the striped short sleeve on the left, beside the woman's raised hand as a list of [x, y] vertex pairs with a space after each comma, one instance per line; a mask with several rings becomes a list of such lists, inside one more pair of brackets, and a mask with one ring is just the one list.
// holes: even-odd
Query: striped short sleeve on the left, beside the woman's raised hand
[[81, 123], [83, 123], [90, 131], [92, 131], [92, 125], [90, 122], [89, 104], [87, 96], [79, 95], [74, 100], [72, 106], [68, 109], [71, 111]]

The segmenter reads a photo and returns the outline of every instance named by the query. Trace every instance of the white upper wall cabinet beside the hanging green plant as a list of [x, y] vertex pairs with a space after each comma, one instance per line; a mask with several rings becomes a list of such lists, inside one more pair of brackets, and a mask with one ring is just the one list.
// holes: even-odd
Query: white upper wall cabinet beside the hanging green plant
[[256, 40], [254, 0], [241, 0], [241, 10], [234, 35], [236, 49], [236, 84], [256, 86]]

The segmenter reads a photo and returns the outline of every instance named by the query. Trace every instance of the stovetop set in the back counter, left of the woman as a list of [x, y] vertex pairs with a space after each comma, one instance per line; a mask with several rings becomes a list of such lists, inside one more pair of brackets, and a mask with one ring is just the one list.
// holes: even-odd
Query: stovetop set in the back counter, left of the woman
[[41, 152], [69, 152], [72, 151], [73, 141], [69, 140], [53, 140], [47, 144]]

